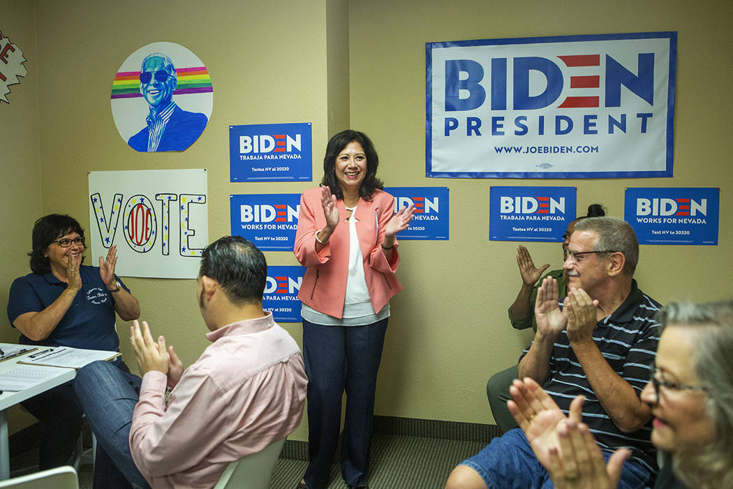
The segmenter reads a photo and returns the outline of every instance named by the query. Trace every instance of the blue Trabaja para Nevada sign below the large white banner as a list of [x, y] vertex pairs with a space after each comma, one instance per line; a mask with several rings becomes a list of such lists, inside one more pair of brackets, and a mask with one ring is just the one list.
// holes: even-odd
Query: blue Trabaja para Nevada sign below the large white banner
[[489, 239], [562, 241], [575, 220], [575, 187], [491, 187]]

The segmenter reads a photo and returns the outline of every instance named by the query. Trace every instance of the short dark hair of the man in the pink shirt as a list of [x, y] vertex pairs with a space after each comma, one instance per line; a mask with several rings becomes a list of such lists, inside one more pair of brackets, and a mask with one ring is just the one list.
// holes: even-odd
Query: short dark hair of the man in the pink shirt
[[199, 276], [216, 280], [229, 301], [243, 304], [262, 301], [268, 278], [265, 255], [240, 236], [224, 236], [201, 254]]

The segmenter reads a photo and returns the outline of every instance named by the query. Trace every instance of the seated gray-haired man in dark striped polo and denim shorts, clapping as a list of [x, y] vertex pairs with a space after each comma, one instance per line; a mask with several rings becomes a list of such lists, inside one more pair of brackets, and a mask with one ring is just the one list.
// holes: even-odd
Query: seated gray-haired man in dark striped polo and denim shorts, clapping
[[[619, 487], [643, 488], [657, 470], [649, 442], [649, 405], [639, 394], [649, 378], [659, 339], [652, 318], [659, 304], [636, 287], [638, 242], [621, 219], [586, 218], [570, 237], [568, 297], [559, 308], [557, 282], [548, 277], [537, 293], [537, 334], [519, 363], [567, 413], [586, 396], [586, 420], [605, 457], [630, 446]], [[494, 438], [452, 472], [446, 488], [549, 488], [547, 471], [522, 430]]]

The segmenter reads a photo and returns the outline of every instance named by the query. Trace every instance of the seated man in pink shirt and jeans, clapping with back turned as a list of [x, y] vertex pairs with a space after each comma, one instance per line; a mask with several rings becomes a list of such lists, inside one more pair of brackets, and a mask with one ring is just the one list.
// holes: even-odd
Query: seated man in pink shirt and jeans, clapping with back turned
[[142, 380], [106, 362], [78, 372], [75, 389], [101, 447], [95, 488], [210, 488], [230, 462], [298, 427], [303, 358], [262, 310], [266, 279], [257, 247], [221, 238], [201, 258], [196, 296], [213, 343], [196, 363], [183, 372], [165, 339], [136, 321], [130, 341]]

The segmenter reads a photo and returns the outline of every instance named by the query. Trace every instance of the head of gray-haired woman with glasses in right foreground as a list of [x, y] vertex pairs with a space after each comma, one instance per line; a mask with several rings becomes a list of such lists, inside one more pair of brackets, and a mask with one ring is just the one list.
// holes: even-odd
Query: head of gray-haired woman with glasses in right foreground
[[662, 322], [655, 379], [641, 394], [652, 443], [688, 487], [732, 488], [733, 301], [669, 304]]

